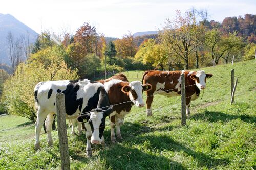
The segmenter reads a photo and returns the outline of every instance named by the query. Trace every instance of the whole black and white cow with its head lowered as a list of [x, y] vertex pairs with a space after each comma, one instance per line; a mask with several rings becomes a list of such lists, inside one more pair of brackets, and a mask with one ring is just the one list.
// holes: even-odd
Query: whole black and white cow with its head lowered
[[[37, 109], [35, 149], [40, 148], [39, 136], [45, 118], [48, 144], [52, 145], [51, 128], [56, 114], [56, 93], [60, 92], [65, 94], [66, 117], [72, 119], [72, 133], [74, 133], [76, 118], [79, 121], [79, 132], [81, 132], [80, 122], [86, 122], [87, 155], [91, 156], [90, 141], [92, 144], [104, 145], [105, 118], [111, 113], [112, 107], [103, 84], [87, 79], [47, 81], [35, 86], [35, 108]], [[81, 113], [86, 114], [79, 116]]]

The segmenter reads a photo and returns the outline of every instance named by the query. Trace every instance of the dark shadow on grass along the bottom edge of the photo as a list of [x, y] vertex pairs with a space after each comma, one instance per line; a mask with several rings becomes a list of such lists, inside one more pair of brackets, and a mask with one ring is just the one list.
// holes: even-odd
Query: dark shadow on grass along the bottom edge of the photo
[[106, 161], [105, 168], [110, 169], [185, 169], [180, 163], [164, 156], [148, 154], [137, 148], [123, 147], [118, 143], [101, 150], [99, 157]]

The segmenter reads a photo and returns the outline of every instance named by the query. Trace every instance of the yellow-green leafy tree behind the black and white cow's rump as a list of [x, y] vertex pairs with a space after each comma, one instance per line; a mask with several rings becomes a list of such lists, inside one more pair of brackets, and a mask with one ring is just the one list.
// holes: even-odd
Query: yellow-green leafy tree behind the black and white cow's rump
[[20, 63], [17, 66], [17, 70], [22, 67], [23, 72], [18, 77], [10, 77], [3, 85], [2, 102], [9, 114], [26, 117], [35, 122], [36, 115], [33, 109], [35, 85], [41, 81], [78, 78], [77, 70], [71, 70], [63, 61], [65, 58], [63, 52], [65, 51], [57, 46], [49, 47], [33, 54], [31, 63]]

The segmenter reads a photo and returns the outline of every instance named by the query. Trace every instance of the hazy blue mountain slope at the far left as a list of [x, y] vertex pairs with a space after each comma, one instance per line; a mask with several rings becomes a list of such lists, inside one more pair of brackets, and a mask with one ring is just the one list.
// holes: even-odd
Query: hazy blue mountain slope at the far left
[[38, 36], [34, 30], [14, 18], [12, 15], [0, 14], [0, 63], [8, 65], [11, 64], [8, 57], [8, 42], [6, 38], [9, 32], [12, 33], [14, 39], [18, 39], [20, 36], [27, 37], [28, 32], [30, 43], [34, 43]]

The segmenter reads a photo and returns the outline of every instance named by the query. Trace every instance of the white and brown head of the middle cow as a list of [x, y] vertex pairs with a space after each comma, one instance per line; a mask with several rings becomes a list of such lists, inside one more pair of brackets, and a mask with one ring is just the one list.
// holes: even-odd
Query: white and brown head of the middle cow
[[148, 91], [151, 90], [152, 86], [150, 84], [143, 84], [140, 81], [133, 81], [129, 83], [129, 85], [125, 85], [122, 87], [122, 92], [129, 95], [130, 100], [137, 107], [143, 107], [145, 105], [142, 99], [142, 90]]

